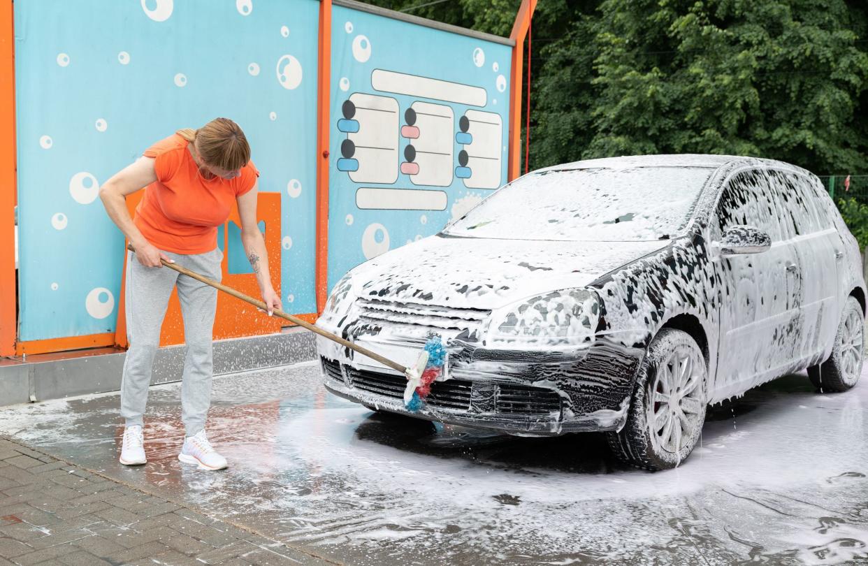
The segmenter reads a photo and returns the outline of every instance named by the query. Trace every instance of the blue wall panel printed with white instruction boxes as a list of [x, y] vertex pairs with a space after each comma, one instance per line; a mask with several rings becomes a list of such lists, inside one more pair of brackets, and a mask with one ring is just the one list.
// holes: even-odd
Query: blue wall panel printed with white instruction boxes
[[[329, 152], [355, 162], [330, 160], [330, 289], [365, 260], [436, 234], [506, 182], [510, 63], [511, 48], [500, 43], [332, 9]], [[345, 120], [357, 122], [358, 131], [345, 131]], [[404, 126], [418, 128], [418, 138], [402, 137]], [[401, 173], [402, 162], [417, 163], [418, 174]], [[359, 188], [416, 190], [382, 198], [391, 208], [361, 209]], [[432, 191], [431, 209], [399, 210], [408, 208], [402, 199], [416, 203], [425, 190]]]

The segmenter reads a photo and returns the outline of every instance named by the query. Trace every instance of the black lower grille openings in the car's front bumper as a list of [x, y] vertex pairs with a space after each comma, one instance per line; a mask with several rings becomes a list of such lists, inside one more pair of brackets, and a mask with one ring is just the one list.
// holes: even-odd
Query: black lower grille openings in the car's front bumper
[[[326, 377], [343, 385], [344, 378], [341, 373], [340, 364], [325, 358], [322, 359], [322, 363]], [[404, 388], [407, 386], [407, 379], [404, 376], [357, 370], [352, 367], [347, 367], [346, 370], [349, 372], [352, 389], [372, 393], [373, 395], [381, 395], [386, 398], [404, 398]], [[426, 399], [426, 403], [433, 408], [469, 411], [473, 387], [474, 382], [466, 379], [435, 381], [431, 384], [431, 394]], [[548, 415], [552, 412], [561, 411], [561, 397], [551, 389], [530, 385], [492, 384], [489, 382], [479, 382], [477, 383], [477, 387], [479, 388], [477, 389], [477, 392], [479, 392], [477, 403], [480, 404], [483, 404], [483, 399], [490, 398], [485, 392], [494, 388], [495, 403], [487, 411], [493, 408], [498, 413], [512, 415]], [[486, 411], [486, 409], [482, 408], [483, 405], [474, 406], [477, 407], [477, 411]]]

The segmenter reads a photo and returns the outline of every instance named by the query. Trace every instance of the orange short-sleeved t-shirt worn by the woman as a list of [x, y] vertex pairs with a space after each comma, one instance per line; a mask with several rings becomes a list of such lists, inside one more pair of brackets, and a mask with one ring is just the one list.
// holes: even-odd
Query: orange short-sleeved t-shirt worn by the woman
[[205, 179], [180, 135], [148, 148], [157, 180], [145, 188], [135, 209], [135, 226], [155, 247], [174, 253], [207, 253], [217, 247], [217, 227], [226, 222], [235, 199], [250, 191], [260, 172], [253, 161], [234, 179]]

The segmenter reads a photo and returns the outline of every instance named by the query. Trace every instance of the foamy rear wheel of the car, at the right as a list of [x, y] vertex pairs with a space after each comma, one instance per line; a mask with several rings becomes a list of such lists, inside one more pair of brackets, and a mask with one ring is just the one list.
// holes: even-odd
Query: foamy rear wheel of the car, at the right
[[808, 377], [821, 392], [845, 392], [858, 382], [864, 359], [865, 313], [859, 301], [850, 296], [835, 332], [832, 355], [822, 364], [809, 367]]

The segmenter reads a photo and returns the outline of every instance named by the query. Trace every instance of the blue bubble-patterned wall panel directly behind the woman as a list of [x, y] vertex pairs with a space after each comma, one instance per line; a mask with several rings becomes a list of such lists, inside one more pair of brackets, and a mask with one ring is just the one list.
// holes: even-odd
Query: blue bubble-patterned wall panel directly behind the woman
[[[99, 183], [179, 128], [238, 122], [280, 192], [281, 295], [315, 310], [316, 0], [16, 0], [22, 340], [114, 332], [123, 237]], [[293, 302], [288, 301], [293, 296]]]

